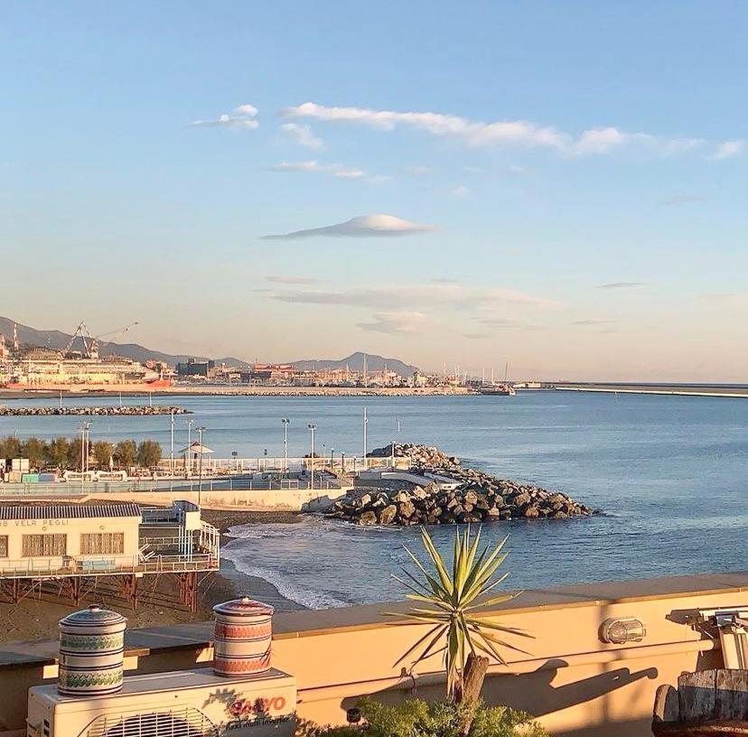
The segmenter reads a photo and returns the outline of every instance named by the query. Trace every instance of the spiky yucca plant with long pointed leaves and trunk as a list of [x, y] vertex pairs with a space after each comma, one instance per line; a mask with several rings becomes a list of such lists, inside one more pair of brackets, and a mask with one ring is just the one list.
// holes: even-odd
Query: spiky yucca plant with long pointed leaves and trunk
[[[492, 549], [488, 545], [483, 547], [479, 553], [481, 529], [472, 539], [469, 526], [463, 533], [456, 530], [451, 569], [424, 527], [421, 528], [421, 539], [428, 556], [427, 563], [421, 563], [405, 546], [407, 555], [416, 564], [416, 574], [403, 568], [406, 578], [397, 575], [393, 578], [407, 588], [408, 599], [427, 605], [409, 609], [407, 614], [410, 621], [407, 623], [425, 622], [432, 627], [412, 648], [407, 649], [396, 665], [413, 658], [412, 667], [415, 667], [426, 658], [443, 653], [447, 696], [456, 703], [477, 702], [491, 660], [501, 664], [506, 662], [501, 649], [525, 652], [501, 639], [500, 635], [530, 637], [522, 630], [505, 627], [474, 613], [478, 608], [508, 602], [518, 595], [492, 595], [509, 575], [495, 576], [507, 555], [502, 552], [507, 538]], [[432, 570], [429, 571], [427, 567]], [[402, 612], [385, 613], [399, 618], [403, 616]]]

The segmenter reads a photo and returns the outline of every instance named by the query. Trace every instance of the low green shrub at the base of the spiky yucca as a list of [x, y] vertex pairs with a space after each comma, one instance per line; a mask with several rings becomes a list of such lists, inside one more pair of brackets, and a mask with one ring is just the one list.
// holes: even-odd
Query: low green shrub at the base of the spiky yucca
[[474, 709], [469, 737], [544, 737], [547, 732], [530, 714], [506, 706], [485, 706], [481, 702], [453, 704], [429, 703], [408, 699], [403, 704], [388, 706], [371, 698], [357, 704], [361, 710], [362, 727], [324, 727], [313, 737], [459, 737], [465, 721], [465, 710]]

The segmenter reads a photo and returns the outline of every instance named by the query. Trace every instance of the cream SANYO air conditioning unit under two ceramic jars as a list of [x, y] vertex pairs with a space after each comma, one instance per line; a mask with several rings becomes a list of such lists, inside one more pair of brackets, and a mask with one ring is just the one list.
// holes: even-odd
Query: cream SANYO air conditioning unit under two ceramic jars
[[212, 668], [128, 676], [114, 695], [29, 690], [28, 737], [293, 737], [296, 682], [271, 668], [217, 676]]

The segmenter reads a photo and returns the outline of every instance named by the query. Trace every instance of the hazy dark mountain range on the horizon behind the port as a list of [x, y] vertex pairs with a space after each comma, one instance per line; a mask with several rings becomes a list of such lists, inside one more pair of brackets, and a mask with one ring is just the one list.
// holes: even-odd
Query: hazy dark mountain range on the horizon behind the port
[[[5, 338], [10, 341], [13, 335], [14, 321], [0, 317], [0, 332], [5, 335]], [[41, 346], [42, 348], [52, 348], [56, 350], [64, 349], [72, 335], [68, 332], [62, 331], [40, 331], [35, 328], [29, 327], [28, 325], [22, 325], [21, 323], [15, 323], [15, 329], [18, 334], [18, 341], [27, 345]], [[73, 343], [73, 348], [80, 350], [82, 347], [80, 339], [76, 339]], [[151, 359], [164, 361], [170, 366], [174, 366], [179, 362], [186, 361], [187, 359], [207, 360], [207, 356], [194, 356], [187, 354], [175, 354], [175, 353], [164, 353], [161, 350], [152, 350], [145, 348], [138, 343], [116, 343], [108, 341], [99, 342], [99, 353], [101, 356], [108, 356], [116, 354], [117, 356], [123, 356], [127, 359], [140, 361], [141, 363]], [[213, 359], [217, 364], [225, 363], [227, 366], [238, 366], [246, 368], [249, 366], [248, 362], [241, 359], [235, 359], [232, 357], [226, 357], [222, 359]], [[345, 368], [348, 366], [351, 370], [361, 370], [363, 368], [364, 354], [361, 352], [351, 353], [345, 359], [340, 360], [300, 360], [291, 362], [292, 366], [297, 368], [309, 369], [334, 369], [334, 368]], [[367, 368], [369, 371], [382, 370], [385, 365], [392, 371], [395, 371], [400, 376], [410, 376], [415, 370], [415, 366], [410, 366], [407, 363], [403, 363], [397, 359], [385, 359], [382, 356], [367, 355], [366, 358]]]

